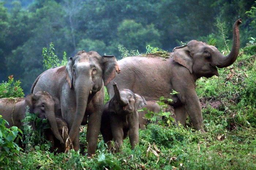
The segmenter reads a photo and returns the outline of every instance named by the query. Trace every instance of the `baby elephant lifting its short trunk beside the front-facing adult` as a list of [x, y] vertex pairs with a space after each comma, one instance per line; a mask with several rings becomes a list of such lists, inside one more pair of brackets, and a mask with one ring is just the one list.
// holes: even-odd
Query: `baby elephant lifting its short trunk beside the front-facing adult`
[[129, 135], [132, 149], [139, 143], [138, 108], [146, 104], [146, 100], [129, 89], [118, 90], [113, 83], [114, 96], [105, 104], [101, 119], [101, 134], [108, 149], [114, 138], [114, 152], [123, 144], [123, 139]]

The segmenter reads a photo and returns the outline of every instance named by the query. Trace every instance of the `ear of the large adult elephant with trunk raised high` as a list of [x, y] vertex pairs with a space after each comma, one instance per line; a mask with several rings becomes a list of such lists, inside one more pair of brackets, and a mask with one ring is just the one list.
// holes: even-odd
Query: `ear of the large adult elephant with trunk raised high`
[[192, 74], [193, 59], [190, 55], [190, 50], [188, 46], [175, 47], [173, 49], [174, 57], [173, 60], [182, 66], [186, 67]]

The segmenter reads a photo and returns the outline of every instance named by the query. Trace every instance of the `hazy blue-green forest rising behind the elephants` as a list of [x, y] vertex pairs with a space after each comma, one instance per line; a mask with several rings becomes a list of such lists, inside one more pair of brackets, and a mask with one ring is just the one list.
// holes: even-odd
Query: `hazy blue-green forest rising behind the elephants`
[[[62, 58], [79, 50], [120, 59], [118, 44], [146, 51], [150, 44], [172, 51], [180, 41], [219, 40], [216, 20], [232, 25], [242, 18], [241, 47], [256, 37], [256, 24], [245, 14], [255, 0], [0, 0], [0, 82], [8, 75], [29, 93], [44, 70], [42, 48], [54, 43]], [[229, 42], [231, 45], [231, 42]]]

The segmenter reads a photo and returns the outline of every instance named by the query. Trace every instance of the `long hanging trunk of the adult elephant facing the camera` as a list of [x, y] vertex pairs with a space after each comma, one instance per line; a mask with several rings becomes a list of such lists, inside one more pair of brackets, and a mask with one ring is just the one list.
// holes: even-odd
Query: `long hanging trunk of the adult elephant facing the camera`
[[87, 101], [92, 89], [92, 83], [90, 81], [86, 81], [86, 78], [81, 78], [80, 81], [77, 80], [75, 86], [75, 93], [76, 93], [76, 114], [73, 120], [71, 129], [68, 133], [68, 136], [71, 142], [74, 141], [76, 135], [79, 134], [79, 128], [82, 123], [84, 113], [87, 107]]

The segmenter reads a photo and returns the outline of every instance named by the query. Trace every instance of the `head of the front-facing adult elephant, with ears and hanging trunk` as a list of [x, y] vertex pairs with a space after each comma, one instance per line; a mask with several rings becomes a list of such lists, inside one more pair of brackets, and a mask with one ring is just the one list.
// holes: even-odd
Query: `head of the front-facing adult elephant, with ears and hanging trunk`
[[69, 138], [74, 140], [83, 120], [88, 100], [99, 90], [102, 84], [108, 84], [119, 73], [114, 56], [100, 56], [97, 52], [79, 51], [74, 58], [69, 58], [66, 66], [66, 79], [76, 96], [76, 114], [69, 131]]

